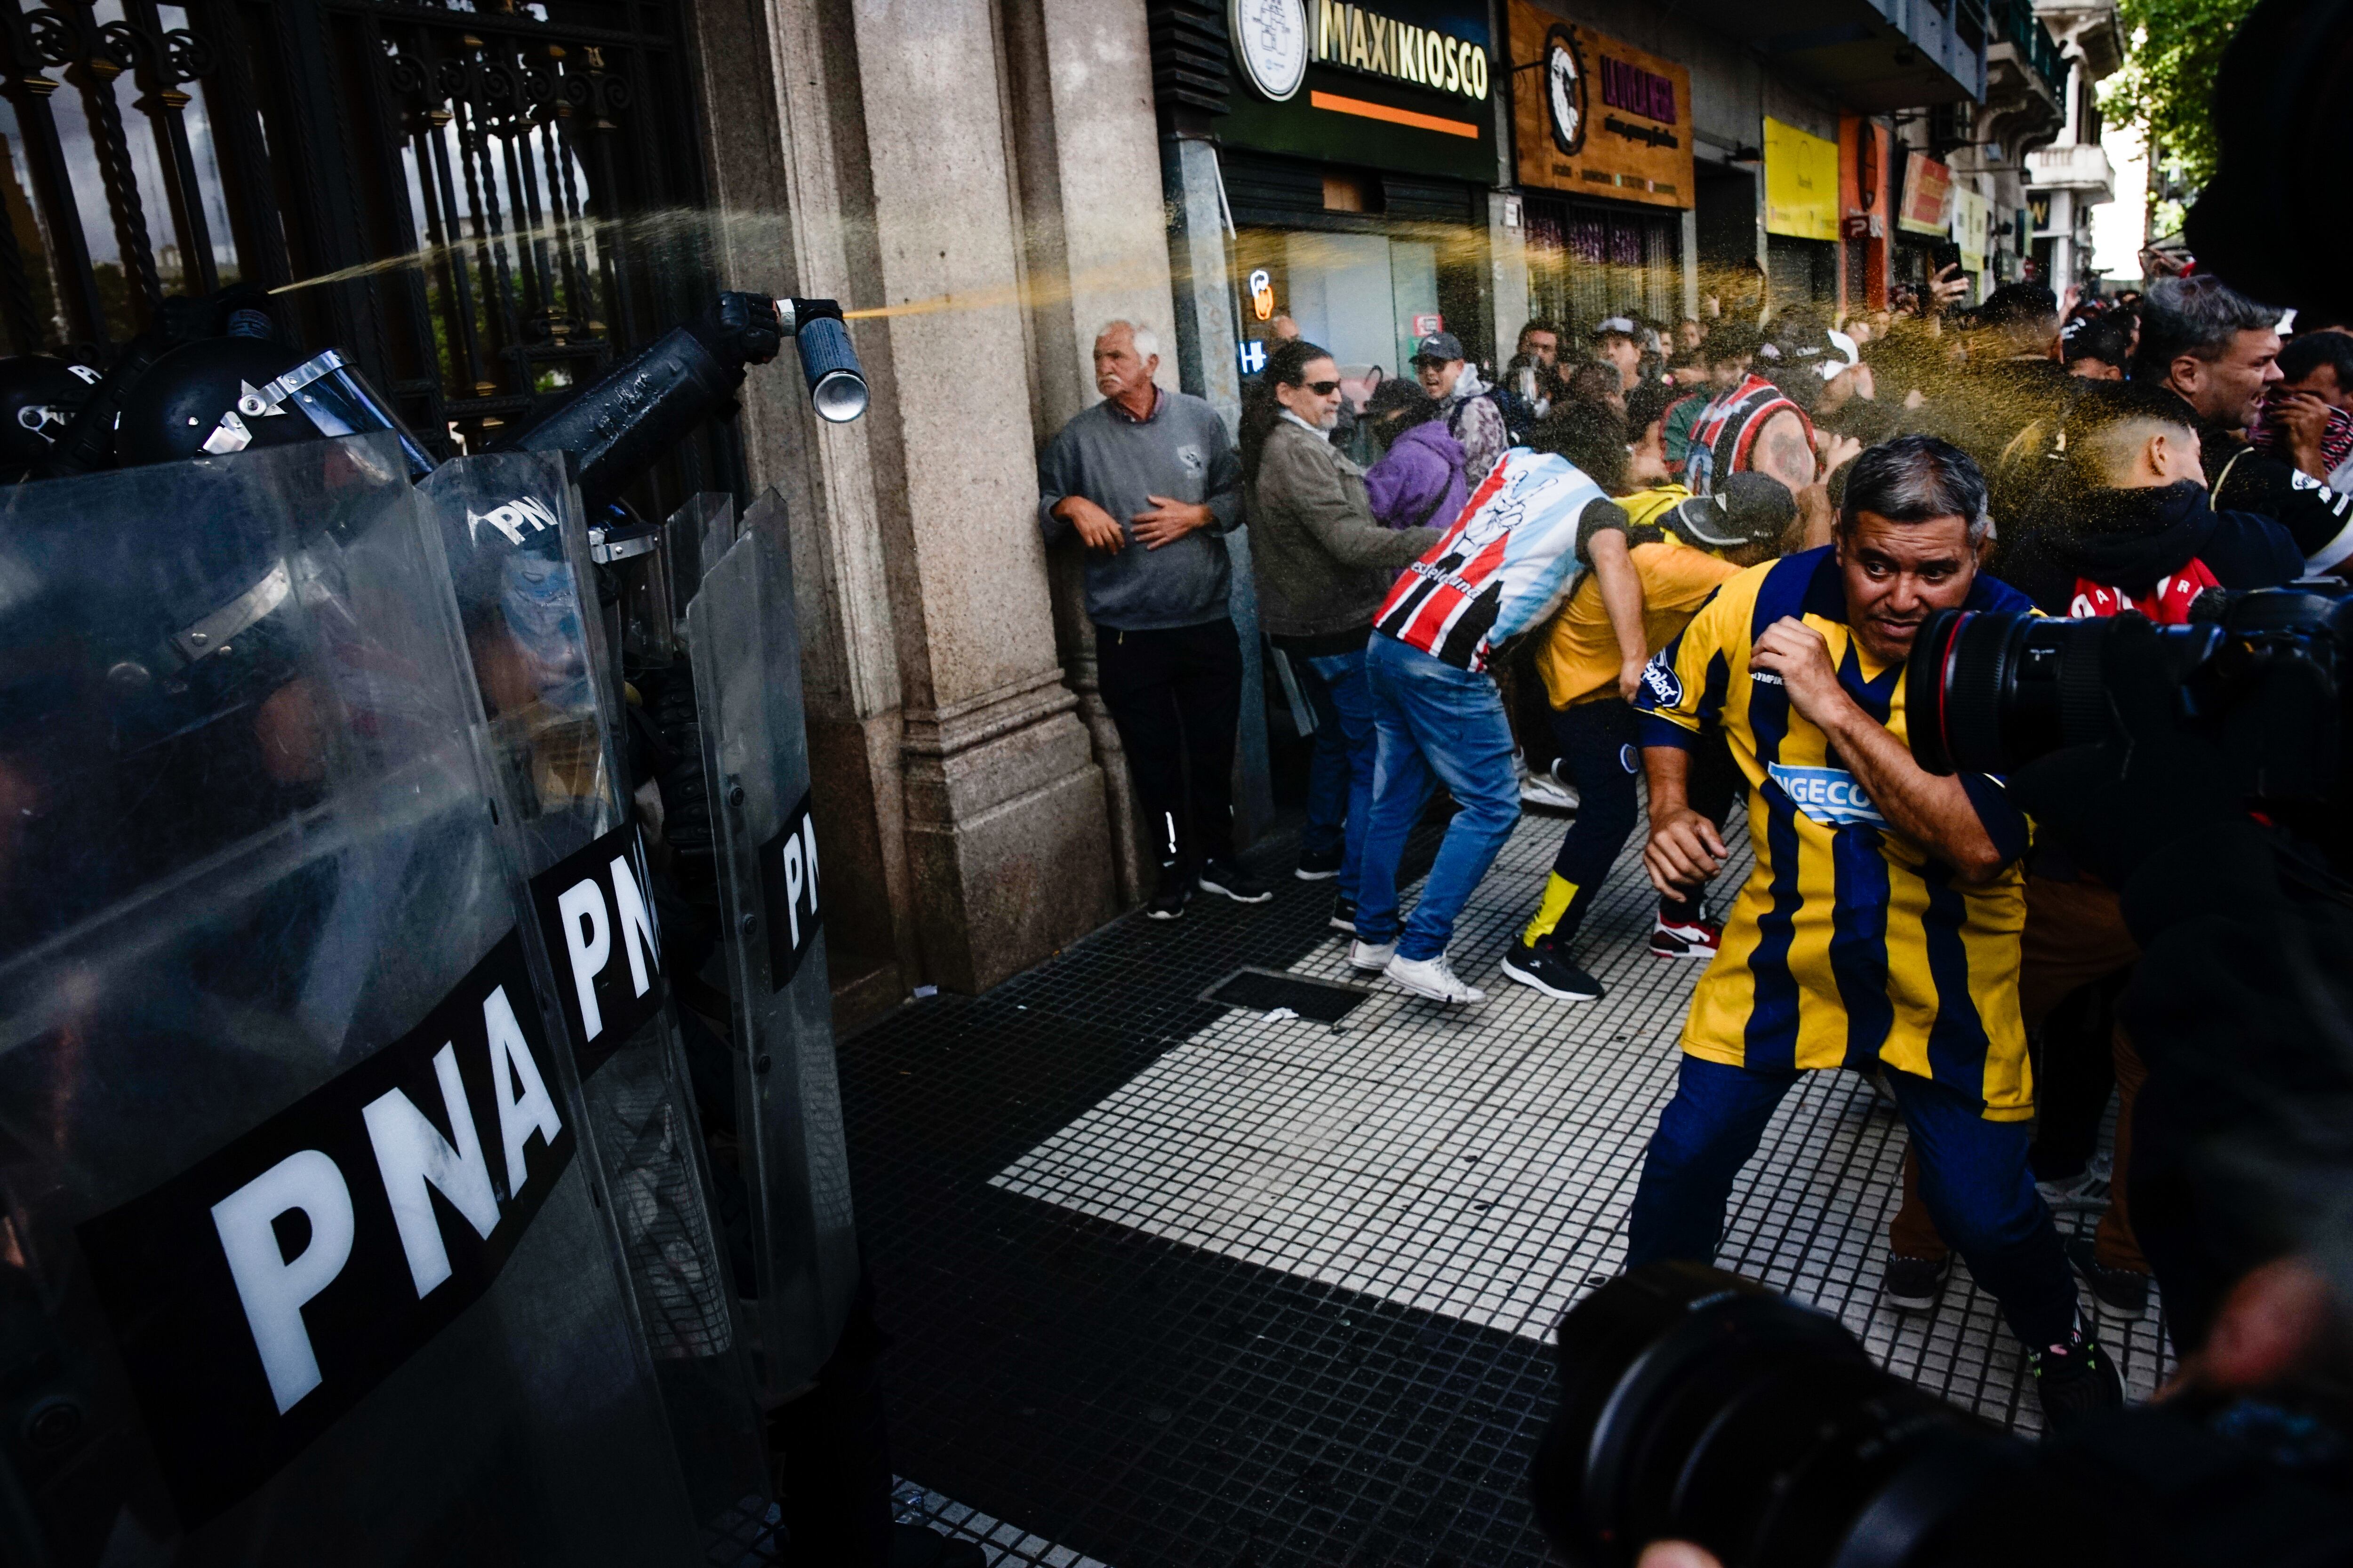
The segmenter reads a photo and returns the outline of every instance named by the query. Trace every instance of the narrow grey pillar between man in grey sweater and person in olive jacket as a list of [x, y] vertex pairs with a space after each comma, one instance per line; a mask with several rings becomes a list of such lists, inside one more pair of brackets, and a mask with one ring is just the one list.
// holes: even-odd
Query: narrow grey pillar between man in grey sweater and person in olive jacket
[[[1184, 390], [1207, 397], [1233, 433], [1242, 418], [1240, 336], [1226, 268], [1226, 202], [1217, 146], [1193, 125], [1160, 136], [1167, 209], [1169, 292], [1176, 306], [1176, 371]], [[1275, 818], [1266, 762], [1266, 661], [1259, 649], [1259, 588], [1249, 576], [1249, 529], [1226, 536], [1233, 559], [1233, 630], [1242, 639], [1242, 733], [1233, 755], [1233, 837], [1247, 846]]]

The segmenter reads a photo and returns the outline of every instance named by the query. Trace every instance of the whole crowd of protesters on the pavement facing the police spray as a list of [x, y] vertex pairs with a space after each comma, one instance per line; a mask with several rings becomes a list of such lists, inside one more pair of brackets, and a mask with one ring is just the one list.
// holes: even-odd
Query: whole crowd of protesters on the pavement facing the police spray
[[[1096, 343], [1106, 402], [1049, 449], [1047, 536], [1089, 552], [1104, 701], [1162, 846], [1148, 912], [1264, 900], [1231, 844], [1240, 661], [1214, 534], [1313, 712], [1297, 875], [1348, 961], [1445, 1004], [1454, 919], [1522, 804], [1574, 813], [1504, 978], [1593, 1001], [1579, 961], [1647, 813], [1649, 952], [1708, 964], [1631, 1215], [1631, 1262], [1708, 1260], [1800, 1072], [1871, 1072], [1911, 1126], [1882, 1291], [1927, 1309], [1958, 1251], [2052, 1422], [2120, 1401], [2078, 1309], [2134, 1319], [2125, 1206], [2144, 1070], [2113, 1001], [2118, 898], [2033, 844], [1993, 778], [1906, 748], [1901, 668], [1946, 607], [2191, 618], [2209, 590], [2353, 559], [2353, 331], [2212, 277], [2132, 301], [1937, 277], [1897, 310], [1529, 322], [1489, 383], [1454, 334], [1344, 407], [1297, 331], [1240, 440]], [[1339, 425], [1358, 451], [1334, 442]], [[1402, 907], [1405, 842], [1452, 818]], [[1751, 872], [1711, 907], [1746, 797]], [[2113, 1159], [2097, 1157], [2111, 1093]], [[2052, 1208], [2101, 1211], [2061, 1241]]]

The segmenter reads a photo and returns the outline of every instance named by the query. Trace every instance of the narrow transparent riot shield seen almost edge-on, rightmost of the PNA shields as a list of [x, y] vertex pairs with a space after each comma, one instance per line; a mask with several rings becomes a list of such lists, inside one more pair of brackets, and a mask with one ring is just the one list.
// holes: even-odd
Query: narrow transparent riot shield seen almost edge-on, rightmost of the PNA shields
[[824, 875], [809, 820], [800, 630], [774, 491], [687, 609], [704, 773], [718, 823], [734, 997], [739, 1152], [753, 1201], [760, 1382], [774, 1399], [840, 1340], [856, 1288], [833, 1072]]

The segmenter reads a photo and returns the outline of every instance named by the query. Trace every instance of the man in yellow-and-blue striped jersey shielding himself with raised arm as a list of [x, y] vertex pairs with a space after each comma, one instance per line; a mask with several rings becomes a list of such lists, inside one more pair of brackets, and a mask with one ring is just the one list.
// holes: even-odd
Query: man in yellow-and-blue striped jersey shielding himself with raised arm
[[2078, 1312], [2026, 1161], [2026, 818], [2000, 780], [1913, 762], [1899, 701], [1929, 614], [2031, 609], [1979, 574], [1988, 538], [1967, 454], [1927, 435], [1873, 447], [1847, 475], [1831, 545], [1727, 578], [1642, 670], [1649, 879], [1673, 893], [1729, 858], [1687, 799], [1706, 729], [1748, 778], [1755, 870], [1692, 997], [1626, 1267], [1713, 1262], [1732, 1182], [1798, 1074], [1875, 1072], [1937, 1229], [2000, 1302], [2059, 1427], [2120, 1406], [2122, 1382]]

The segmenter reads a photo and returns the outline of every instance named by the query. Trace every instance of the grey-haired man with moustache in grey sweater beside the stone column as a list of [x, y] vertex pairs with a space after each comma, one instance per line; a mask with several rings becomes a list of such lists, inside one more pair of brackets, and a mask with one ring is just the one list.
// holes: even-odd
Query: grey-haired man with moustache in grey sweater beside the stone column
[[1217, 538], [1242, 522], [1242, 461], [1200, 397], [1153, 381], [1160, 339], [1136, 322], [1094, 334], [1094, 388], [1038, 458], [1047, 545], [1087, 552], [1087, 618], [1104, 708], [1160, 856], [1153, 919], [1184, 914], [1193, 886], [1238, 903], [1273, 891], [1233, 860], [1233, 738], [1242, 644]]

